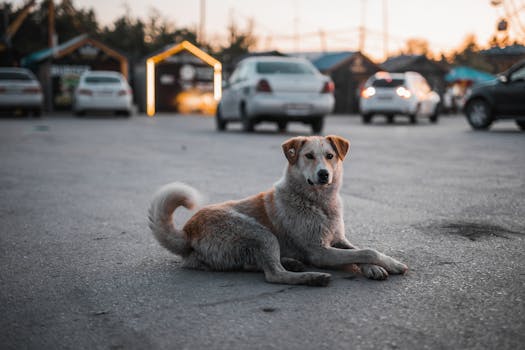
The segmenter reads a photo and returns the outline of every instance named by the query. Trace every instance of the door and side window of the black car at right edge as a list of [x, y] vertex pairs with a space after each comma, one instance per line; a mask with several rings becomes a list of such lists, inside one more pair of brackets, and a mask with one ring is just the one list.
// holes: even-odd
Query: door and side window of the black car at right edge
[[525, 115], [525, 64], [494, 87], [494, 100], [498, 114]]

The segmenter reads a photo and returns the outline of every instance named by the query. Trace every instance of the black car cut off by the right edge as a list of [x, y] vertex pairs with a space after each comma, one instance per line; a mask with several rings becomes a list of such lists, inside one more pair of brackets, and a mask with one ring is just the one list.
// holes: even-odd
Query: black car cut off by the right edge
[[486, 130], [497, 119], [514, 119], [525, 130], [525, 60], [498, 79], [474, 85], [465, 102], [467, 120], [476, 130]]

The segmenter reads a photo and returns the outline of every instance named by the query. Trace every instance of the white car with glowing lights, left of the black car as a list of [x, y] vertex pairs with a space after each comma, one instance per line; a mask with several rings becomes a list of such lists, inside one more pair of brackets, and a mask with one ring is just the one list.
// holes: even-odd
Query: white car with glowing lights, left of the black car
[[440, 111], [439, 95], [416, 72], [377, 72], [366, 81], [359, 103], [365, 124], [376, 114], [385, 115], [389, 123], [398, 114], [408, 116], [412, 124], [421, 116], [436, 123]]

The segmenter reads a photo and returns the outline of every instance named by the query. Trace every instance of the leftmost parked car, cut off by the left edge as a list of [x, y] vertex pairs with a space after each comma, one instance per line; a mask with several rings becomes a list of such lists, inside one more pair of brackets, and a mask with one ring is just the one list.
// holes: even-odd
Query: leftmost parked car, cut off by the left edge
[[0, 109], [42, 113], [42, 87], [33, 73], [25, 68], [0, 67]]

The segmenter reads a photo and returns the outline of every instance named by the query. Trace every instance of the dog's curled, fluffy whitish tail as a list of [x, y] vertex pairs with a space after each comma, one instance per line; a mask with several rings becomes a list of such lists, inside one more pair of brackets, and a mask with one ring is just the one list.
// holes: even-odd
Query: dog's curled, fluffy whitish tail
[[180, 182], [165, 185], [155, 193], [149, 208], [149, 227], [157, 241], [172, 253], [187, 256], [192, 250], [184, 232], [173, 224], [173, 212], [181, 205], [193, 209], [199, 199], [196, 189]]

